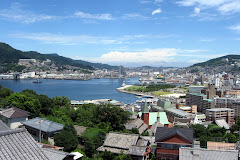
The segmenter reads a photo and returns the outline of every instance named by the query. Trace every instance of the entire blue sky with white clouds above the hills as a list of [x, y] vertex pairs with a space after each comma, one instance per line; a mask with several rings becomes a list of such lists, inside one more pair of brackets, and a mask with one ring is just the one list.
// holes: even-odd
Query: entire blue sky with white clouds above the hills
[[240, 52], [240, 0], [0, 0], [0, 41], [124, 66]]

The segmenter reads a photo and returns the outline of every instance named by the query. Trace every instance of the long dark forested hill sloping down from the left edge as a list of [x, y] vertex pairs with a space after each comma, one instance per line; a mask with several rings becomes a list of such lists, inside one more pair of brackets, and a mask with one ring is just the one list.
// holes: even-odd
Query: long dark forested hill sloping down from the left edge
[[2, 64], [12, 64], [17, 63], [19, 59], [37, 59], [37, 60], [46, 60], [50, 59], [59, 65], [70, 65], [76, 66], [83, 69], [116, 69], [117, 66], [110, 66], [107, 64], [101, 63], [90, 63], [82, 60], [73, 60], [71, 58], [66, 58], [59, 56], [58, 54], [41, 54], [36, 51], [23, 52], [17, 49], [12, 48], [6, 43], [0, 43], [0, 63]]

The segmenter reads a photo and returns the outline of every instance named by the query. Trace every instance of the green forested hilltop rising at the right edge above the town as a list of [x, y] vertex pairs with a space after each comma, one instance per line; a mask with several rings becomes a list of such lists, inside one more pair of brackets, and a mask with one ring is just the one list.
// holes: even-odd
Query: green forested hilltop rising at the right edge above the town
[[[226, 59], [228, 59], [228, 61], [225, 61]], [[224, 65], [224, 64], [233, 64], [236, 61], [240, 61], [240, 55], [226, 55], [226, 56], [222, 56], [222, 57], [218, 57], [218, 58], [214, 58], [214, 59], [210, 59], [206, 62], [202, 62], [202, 63], [196, 63], [190, 67], [205, 67], [205, 66], [209, 66], [209, 67], [214, 67], [214, 66], [218, 66], [218, 65]]]

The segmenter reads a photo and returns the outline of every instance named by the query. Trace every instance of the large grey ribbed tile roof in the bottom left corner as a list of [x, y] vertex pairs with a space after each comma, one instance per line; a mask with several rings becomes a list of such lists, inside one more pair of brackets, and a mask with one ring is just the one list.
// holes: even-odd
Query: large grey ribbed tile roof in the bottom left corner
[[48, 160], [26, 129], [0, 132], [0, 159], [7, 160]]

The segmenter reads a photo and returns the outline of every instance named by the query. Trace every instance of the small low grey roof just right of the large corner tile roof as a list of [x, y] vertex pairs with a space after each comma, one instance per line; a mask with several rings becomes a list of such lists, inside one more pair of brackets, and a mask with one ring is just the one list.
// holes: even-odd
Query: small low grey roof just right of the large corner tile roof
[[42, 150], [49, 160], [63, 160], [66, 157], [74, 157], [73, 154], [51, 148], [43, 148]]

